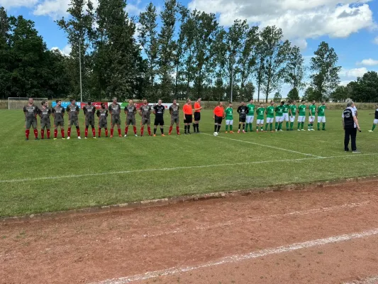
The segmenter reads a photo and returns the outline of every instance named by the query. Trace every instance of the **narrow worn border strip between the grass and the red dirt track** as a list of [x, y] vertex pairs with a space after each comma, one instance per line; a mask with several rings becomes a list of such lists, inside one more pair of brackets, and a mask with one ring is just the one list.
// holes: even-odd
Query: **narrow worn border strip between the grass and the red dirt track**
[[212, 192], [199, 195], [184, 195], [179, 197], [162, 198], [159, 200], [143, 200], [138, 202], [128, 202], [123, 204], [113, 204], [100, 207], [87, 207], [82, 209], [72, 209], [59, 212], [45, 212], [37, 214], [26, 214], [22, 216], [0, 217], [0, 224], [17, 224], [26, 222], [44, 222], [52, 219], [65, 219], [70, 217], [86, 216], [91, 214], [104, 214], [111, 212], [121, 212], [126, 210], [143, 209], [148, 207], [161, 207], [170, 204], [179, 204], [184, 202], [197, 202], [201, 200], [220, 199], [227, 197], [248, 196], [257, 192], [274, 192], [274, 191], [290, 191], [290, 190], [312, 190], [315, 188], [328, 187], [333, 185], [344, 185], [351, 182], [369, 182], [378, 180], [377, 175], [369, 175], [357, 178], [325, 180], [308, 183], [297, 183], [291, 185], [272, 185], [268, 187], [255, 187], [248, 190], [233, 190], [228, 192]]

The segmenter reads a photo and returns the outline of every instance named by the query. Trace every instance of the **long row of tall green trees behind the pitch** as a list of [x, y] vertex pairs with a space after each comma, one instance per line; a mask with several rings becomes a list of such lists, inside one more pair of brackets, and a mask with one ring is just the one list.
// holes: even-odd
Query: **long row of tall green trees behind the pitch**
[[[69, 56], [48, 50], [33, 21], [0, 8], [0, 97], [111, 97], [170, 101], [250, 98], [330, 99], [340, 84], [338, 55], [322, 42], [310, 66], [281, 28], [250, 26], [236, 19], [228, 28], [216, 15], [190, 11], [165, 0], [138, 17], [125, 0], [71, 0], [69, 18], [57, 25], [72, 47]], [[289, 94], [281, 94], [288, 84]], [[257, 93], [255, 96], [254, 94]]]

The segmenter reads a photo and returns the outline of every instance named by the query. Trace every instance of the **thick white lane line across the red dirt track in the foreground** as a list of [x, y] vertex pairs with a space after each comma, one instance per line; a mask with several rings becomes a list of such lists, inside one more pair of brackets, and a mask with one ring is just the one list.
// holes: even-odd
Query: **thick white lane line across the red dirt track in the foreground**
[[269, 255], [277, 254], [277, 253], [287, 253], [287, 252], [296, 251], [299, 249], [308, 249], [308, 248], [312, 248], [313, 246], [324, 246], [326, 244], [335, 244], [341, 241], [361, 239], [367, 236], [374, 236], [377, 234], [378, 234], [378, 229], [372, 229], [369, 231], [362, 231], [360, 233], [345, 234], [341, 236], [331, 236], [326, 239], [316, 239], [313, 241], [305, 241], [304, 243], [291, 244], [289, 246], [279, 246], [274, 249], [263, 249], [261, 251], [255, 251], [251, 253], [237, 254], [235, 256], [226, 256], [216, 261], [209, 261], [208, 263], [199, 264], [198, 266], [172, 267], [172, 268], [163, 269], [161, 271], [150, 271], [147, 273], [123, 277], [123, 278], [104, 280], [104, 281], [98, 282], [97, 284], [124, 284], [124, 283], [130, 283], [133, 281], [147, 280], [150, 278], [157, 278], [160, 276], [175, 275], [179, 273], [185, 273], [188, 271], [195, 271], [201, 268], [220, 266], [226, 263], [238, 263], [240, 261], [246, 261], [253, 258], [260, 258], [263, 256], [269, 256]]

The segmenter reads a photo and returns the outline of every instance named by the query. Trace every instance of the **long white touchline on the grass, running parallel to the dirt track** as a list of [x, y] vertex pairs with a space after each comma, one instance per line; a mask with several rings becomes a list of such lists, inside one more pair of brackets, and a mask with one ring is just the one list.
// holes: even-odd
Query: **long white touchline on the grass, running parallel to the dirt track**
[[95, 177], [101, 175], [123, 175], [128, 173], [146, 173], [146, 172], [166, 172], [170, 170], [189, 170], [192, 168], [213, 168], [213, 167], [223, 167], [223, 166], [233, 166], [233, 165], [253, 165], [253, 164], [264, 164], [264, 163], [282, 163], [282, 162], [300, 162], [303, 160], [320, 160], [320, 159], [335, 159], [335, 158], [355, 158], [360, 155], [378, 155], [378, 153], [371, 154], [356, 154], [356, 155], [334, 155], [330, 157], [315, 157], [315, 158], [300, 158], [300, 159], [287, 159], [287, 160], [261, 160], [255, 162], [245, 162], [245, 163], [233, 163], [233, 164], [213, 164], [213, 165], [191, 165], [187, 167], [176, 167], [176, 168], [151, 168], [143, 170], [121, 170], [118, 172], [104, 172], [104, 173], [84, 173], [81, 175], [58, 175], [50, 177], [40, 177], [40, 178], [21, 178], [14, 180], [0, 180], [1, 183], [13, 183], [13, 182], [31, 182], [35, 180], [59, 180], [65, 178], [84, 178], [84, 177]]

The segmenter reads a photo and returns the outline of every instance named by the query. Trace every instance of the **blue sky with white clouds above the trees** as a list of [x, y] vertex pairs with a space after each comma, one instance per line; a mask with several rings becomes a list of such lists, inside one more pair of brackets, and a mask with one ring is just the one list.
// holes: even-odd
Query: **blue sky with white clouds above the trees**
[[[128, 13], [137, 16], [148, 2], [128, 1]], [[59, 48], [65, 53], [70, 47], [54, 20], [67, 17], [69, 3], [70, 0], [0, 0], [0, 6], [9, 14], [33, 20], [48, 48]], [[162, 0], [152, 3], [160, 9], [164, 5]], [[226, 27], [235, 18], [246, 18], [259, 26], [279, 26], [289, 40], [299, 45], [306, 62], [325, 40], [338, 54], [343, 84], [368, 70], [378, 70], [378, 0], [183, 0], [181, 3], [189, 9], [216, 13]]]

